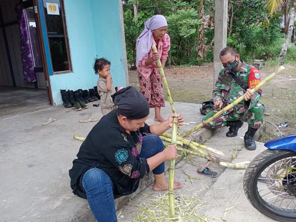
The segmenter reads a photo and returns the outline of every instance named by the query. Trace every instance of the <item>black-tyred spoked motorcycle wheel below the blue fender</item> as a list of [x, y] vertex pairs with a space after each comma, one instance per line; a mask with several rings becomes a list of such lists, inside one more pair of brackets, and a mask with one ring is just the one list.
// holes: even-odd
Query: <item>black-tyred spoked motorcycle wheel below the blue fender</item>
[[296, 222], [296, 153], [265, 150], [245, 171], [244, 192], [262, 214], [283, 222]]

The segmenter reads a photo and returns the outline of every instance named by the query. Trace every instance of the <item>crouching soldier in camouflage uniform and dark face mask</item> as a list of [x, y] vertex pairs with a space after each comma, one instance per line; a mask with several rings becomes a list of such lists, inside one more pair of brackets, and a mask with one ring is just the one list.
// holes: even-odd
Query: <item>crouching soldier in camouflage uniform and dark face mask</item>
[[[243, 122], [248, 123], [248, 130], [244, 136], [244, 144], [247, 150], [255, 150], [255, 133], [263, 123], [264, 106], [259, 103], [262, 89], [254, 94], [250, 92], [261, 82], [258, 69], [239, 60], [239, 54], [231, 47], [226, 47], [220, 52], [220, 60], [224, 66], [221, 69], [213, 90], [215, 109], [209, 110], [203, 120], [207, 120], [221, 108], [234, 102], [239, 96], [246, 93], [245, 100], [239, 102], [233, 108], [223, 112], [219, 117], [209, 122], [204, 127], [220, 128], [229, 127], [226, 133], [228, 137], [237, 136], [238, 129]], [[239, 85], [233, 78], [234, 73], [244, 85]], [[246, 90], [244, 90], [246, 89]]]

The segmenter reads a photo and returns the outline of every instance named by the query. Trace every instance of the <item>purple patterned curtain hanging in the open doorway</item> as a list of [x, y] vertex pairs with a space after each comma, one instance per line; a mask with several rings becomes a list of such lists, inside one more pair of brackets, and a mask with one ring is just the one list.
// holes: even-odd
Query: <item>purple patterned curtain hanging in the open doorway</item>
[[19, 5], [16, 7], [16, 12], [20, 25], [24, 80], [25, 82], [36, 82], [37, 78], [34, 70], [26, 10], [22, 7], [22, 5]]

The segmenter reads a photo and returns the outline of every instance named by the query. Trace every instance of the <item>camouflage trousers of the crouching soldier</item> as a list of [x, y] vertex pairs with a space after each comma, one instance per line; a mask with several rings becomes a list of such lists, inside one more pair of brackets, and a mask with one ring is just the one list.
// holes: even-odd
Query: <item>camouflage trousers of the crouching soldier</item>
[[[203, 118], [204, 120], [207, 120], [208, 118], [215, 115], [218, 111], [217, 110], [209, 110], [207, 115]], [[264, 106], [260, 103], [257, 103], [253, 108], [251, 109], [244, 109], [242, 113], [237, 112], [236, 109], [233, 109], [230, 113], [224, 115], [223, 113], [213, 119], [213, 121], [206, 124], [205, 128], [221, 128], [225, 127], [228, 121], [235, 121], [235, 120], [242, 120], [243, 122], [248, 123], [249, 127], [252, 128], [259, 128], [263, 123], [263, 116], [264, 116]]]

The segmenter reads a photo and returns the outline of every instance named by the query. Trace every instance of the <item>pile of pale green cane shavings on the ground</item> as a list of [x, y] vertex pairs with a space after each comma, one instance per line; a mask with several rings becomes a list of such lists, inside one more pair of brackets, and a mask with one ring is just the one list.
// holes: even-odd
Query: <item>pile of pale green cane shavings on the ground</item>
[[197, 215], [198, 210], [207, 201], [194, 196], [175, 195], [175, 215], [171, 216], [168, 210], [169, 196], [168, 192], [165, 194], [152, 195], [145, 198], [145, 202], [137, 205], [137, 213], [133, 213], [133, 221], [141, 222], [185, 222], [197, 221], [206, 222], [206, 215]]

